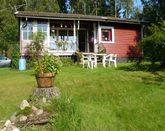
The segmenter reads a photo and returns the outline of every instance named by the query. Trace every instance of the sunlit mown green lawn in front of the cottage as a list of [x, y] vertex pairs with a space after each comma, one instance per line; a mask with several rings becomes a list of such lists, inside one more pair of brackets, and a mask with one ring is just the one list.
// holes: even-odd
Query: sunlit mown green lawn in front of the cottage
[[[55, 85], [73, 97], [85, 131], [165, 130], [165, 71], [64, 67]], [[36, 86], [33, 71], [0, 69], [0, 120], [7, 119]]]

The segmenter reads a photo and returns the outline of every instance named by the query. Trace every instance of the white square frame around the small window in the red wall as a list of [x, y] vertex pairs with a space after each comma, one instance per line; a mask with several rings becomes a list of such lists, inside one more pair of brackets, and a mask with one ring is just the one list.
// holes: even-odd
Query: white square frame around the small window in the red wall
[[[102, 29], [111, 29], [112, 30], [112, 41], [102, 41]], [[115, 33], [114, 27], [112, 26], [100, 26], [99, 27], [99, 43], [115, 43]]]

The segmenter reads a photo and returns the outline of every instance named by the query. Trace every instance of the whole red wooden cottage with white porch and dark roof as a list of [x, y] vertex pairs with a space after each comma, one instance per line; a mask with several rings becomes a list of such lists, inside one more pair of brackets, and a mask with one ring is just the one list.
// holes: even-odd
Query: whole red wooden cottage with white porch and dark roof
[[76, 50], [98, 52], [102, 44], [106, 53], [115, 53], [119, 59], [138, 57], [135, 50], [142, 38], [141, 21], [103, 16], [47, 12], [15, 13], [20, 22], [20, 53], [26, 55], [26, 46], [33, 32], [46, 34], [45, 49], [54, 55], [71, 56]]

